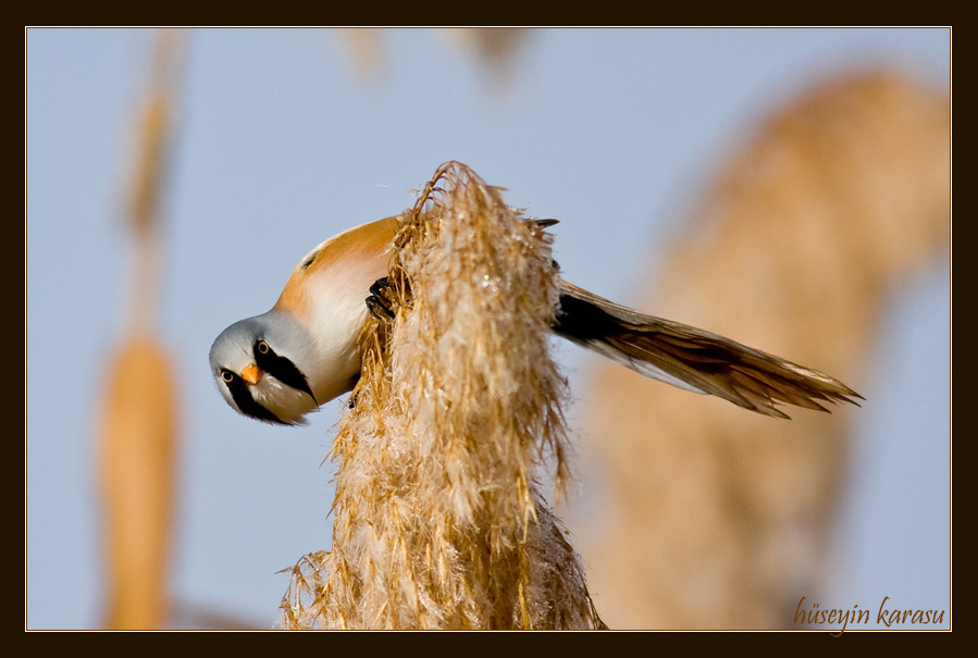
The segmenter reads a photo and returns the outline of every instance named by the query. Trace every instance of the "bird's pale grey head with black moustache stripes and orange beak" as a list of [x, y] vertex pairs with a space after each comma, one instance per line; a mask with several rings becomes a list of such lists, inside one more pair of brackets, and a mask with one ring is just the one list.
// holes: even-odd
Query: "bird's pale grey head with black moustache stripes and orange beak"
[[214, 340], [211, 373], [227, 404], [240, 413], [283, 425], [305, 423], [319, 402], [297, 364], [314, 364], [306, 330], [280, 311], [235, 322]]

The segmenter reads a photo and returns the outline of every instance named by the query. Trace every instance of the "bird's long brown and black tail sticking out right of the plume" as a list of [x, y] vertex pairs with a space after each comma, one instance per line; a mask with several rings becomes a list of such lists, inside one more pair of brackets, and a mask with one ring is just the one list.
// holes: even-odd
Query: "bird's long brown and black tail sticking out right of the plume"
[[819, 401], [864, 399], [818, 371], [694, 326], [644, 315], [561, 282], [554, 332], [648, 377], [738, 407], [789, 418], [778, 402], [828, 411]]

